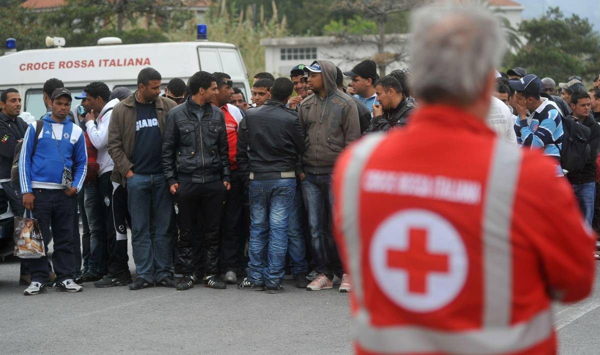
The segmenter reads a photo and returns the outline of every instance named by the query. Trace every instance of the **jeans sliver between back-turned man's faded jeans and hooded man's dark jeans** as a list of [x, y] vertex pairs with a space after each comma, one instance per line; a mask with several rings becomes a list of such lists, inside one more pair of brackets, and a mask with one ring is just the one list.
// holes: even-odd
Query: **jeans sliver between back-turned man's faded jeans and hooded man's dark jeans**
[[296, 185], [296, 194], [290, 209], [290, 220], [287, 226], [287, 252], [290, 255], [292, 275], [308, 272], [306, 261], [306, 243], [302, 228], [302, 189]]

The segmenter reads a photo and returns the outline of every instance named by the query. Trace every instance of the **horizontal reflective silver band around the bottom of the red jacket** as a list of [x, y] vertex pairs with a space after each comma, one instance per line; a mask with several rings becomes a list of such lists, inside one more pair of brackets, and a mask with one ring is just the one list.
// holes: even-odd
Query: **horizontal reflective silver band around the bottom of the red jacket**
[[373, 327], [366, 311], [356, 317], [356, 334], [361, 348], [380, 354], [436, 353], [492, 355], [527, 350], [552, 332], [550, 310], [525, 323], [464, 332], [440, 332], [430, 328]]

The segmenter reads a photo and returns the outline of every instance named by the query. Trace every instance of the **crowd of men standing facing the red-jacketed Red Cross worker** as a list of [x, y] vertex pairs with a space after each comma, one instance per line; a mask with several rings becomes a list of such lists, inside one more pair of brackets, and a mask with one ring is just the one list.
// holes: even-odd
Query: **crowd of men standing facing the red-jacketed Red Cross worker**
[[[293, 67], [289, 78], [256, 74], [250, 104], [226, 73], [172, 79], [163, 92], [161, 74], [144, 68], [135, 92], [89, 83], [75, 96], [77, 115], [73, 94], [50, 79], [47, 113], [29, 125], [19, 117], [20, 93], [4, 90], [2, 189], [16, 215], [32, 210], [46, 248], [53, 241], [52, 263], [22, 261], [25, 294], [77, 292], [86, 282], [279, 293], [284, 279], [307, 290], [352, 291], [332, 236], [332, 171], [355, 140], [410, 125], [418, 103], [409, 77], [404, 69], [380, 78], [370, 60], [346, 72], [314, 61]], [[500, 139], [554, 157], [594, 227], [598, 83], [587, 91], [580, 77], [569, 77], [558, 97], [552, 79], [514, 68], [498, 73], [488, 114]], [[571, 145], [564, 154], [565, 120], [587, 150]], [[11, 179], [15, 154], [18, 179]]]

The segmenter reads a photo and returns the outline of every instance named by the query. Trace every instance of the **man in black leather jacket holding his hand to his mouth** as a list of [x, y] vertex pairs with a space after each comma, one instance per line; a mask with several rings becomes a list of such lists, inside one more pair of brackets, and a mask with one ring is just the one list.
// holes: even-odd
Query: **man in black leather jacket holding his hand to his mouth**
[[400, 82], [388, 75], [375, 84], [375, 92], [379, 105], [373, 105], [374, 131], [406, 126], [415, 104], [406, 100]]

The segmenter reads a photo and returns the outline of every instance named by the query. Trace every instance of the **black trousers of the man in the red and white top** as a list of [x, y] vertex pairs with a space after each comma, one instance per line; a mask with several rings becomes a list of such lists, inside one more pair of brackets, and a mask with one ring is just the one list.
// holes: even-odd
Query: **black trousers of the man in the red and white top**
[[244, 258], [246, 240], [242, 237], [242, 205], [244, 182], [238, 170], [231, 172], [231, 189], [227, 191], [223, 220], [221, 222], [221, 270], [238, 273], [239, 262]]

